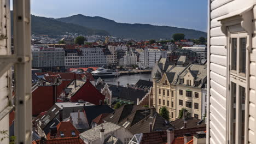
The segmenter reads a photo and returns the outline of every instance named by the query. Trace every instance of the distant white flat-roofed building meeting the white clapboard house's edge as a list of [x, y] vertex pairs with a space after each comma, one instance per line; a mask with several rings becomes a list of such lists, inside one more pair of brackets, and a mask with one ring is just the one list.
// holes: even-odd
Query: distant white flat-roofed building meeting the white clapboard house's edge
[[195, 51], [198, 59], [207, 59], [207, 47], [205, 45], [193, 45], [193, 47], [182, 47], [182, 49]]

